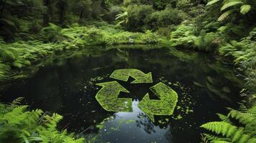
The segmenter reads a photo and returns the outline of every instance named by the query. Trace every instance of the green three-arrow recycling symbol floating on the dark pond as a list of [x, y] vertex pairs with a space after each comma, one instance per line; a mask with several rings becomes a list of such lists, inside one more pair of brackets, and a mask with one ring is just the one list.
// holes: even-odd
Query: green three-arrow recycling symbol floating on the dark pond
[[[110, 78], [128, 82], [129, 77], [135, 79], [131, 84], [151, 84], [153, 78], [151, 72], [143, 73], [138, 69], [117, 69], [113, 71]], [[95, 98], [99, 104], [108, 112], [133, 112], [131, 98], [119, 98], [120, 92], [130, 93], [125, 87], [116, 81], [96, 84], [102, 87]], [[159, 99], [150, 99], [147, 93], [141, 102], [140, 108], [151, 121], [154, 122], [154, 115], [171, 115], [174, 113], [178, 94], [163, 82], [159, 82], [149, 88]]]

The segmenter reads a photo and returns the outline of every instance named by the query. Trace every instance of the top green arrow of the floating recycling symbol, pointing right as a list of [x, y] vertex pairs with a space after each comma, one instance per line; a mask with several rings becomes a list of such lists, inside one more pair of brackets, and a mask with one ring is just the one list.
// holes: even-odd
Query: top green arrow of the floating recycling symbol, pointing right
[[143, 71], [138, 69], [116, 69], [110, 75], [110, 78], [118, 79], [124, 82], [127, 82], [129, 77], [133, 77], [133, 79], [135, 79], [133, 82], [131, 82], [131, 84], [153, 83], [151, 72], [145, 74]]

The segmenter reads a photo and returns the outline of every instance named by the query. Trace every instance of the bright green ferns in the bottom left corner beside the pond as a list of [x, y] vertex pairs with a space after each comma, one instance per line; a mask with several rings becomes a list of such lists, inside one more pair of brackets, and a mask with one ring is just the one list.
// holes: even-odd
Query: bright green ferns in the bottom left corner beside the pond
[[20, 105], [22, 98], [11, 104], [0, 104], [0, 142], [66, 142], [82, 143], [67, 131], [57, 131], [62, 116], [43, 114], [42, 110], [27, 111], [28, 106]]

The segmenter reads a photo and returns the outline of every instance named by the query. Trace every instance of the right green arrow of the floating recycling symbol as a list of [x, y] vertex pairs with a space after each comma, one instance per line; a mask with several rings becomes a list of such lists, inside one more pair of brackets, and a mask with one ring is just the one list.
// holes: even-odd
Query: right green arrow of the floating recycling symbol
[[174, 113], [176, 103], [178, 102], [178, 94], [162, 82], [150, 88], [160, 99], [149, 99], [149, 94], [138, 104], [138, 107], [155, 122], [153, 115], [171, 115]]

